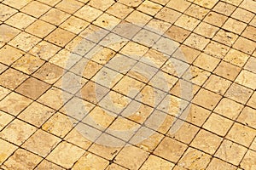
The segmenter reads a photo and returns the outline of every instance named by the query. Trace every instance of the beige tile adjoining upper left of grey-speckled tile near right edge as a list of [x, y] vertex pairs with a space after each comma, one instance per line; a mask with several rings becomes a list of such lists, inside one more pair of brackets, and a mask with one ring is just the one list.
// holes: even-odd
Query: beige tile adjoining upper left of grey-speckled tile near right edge
[[203, 87], [214, 93], [224, 95], [226, 90], [230, 88], [231, 83], [232, 82], [222, 77], [211, 75]]

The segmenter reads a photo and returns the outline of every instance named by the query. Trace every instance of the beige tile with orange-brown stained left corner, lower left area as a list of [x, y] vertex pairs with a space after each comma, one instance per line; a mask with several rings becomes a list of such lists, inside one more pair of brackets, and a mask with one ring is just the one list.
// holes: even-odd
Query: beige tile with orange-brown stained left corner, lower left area
[[55, 113], [54, 116], [51, 116], [49, 120], [43, 124], [42, 129], [63, 138], [73, 128], [73, 125], [76, 122], [77, 121], [75, 121], [73, 118], [58, 112]]

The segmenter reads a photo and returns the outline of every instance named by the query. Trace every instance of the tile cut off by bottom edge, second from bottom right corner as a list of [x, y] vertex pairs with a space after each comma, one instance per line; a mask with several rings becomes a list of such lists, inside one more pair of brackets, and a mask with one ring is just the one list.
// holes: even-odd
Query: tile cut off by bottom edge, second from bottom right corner
[[217, 158], [213, 158], [207, 167], [207, 170], [221, 170], [221, 169], [235, 170], [236, 167], [225, 161], [221, 161]]

